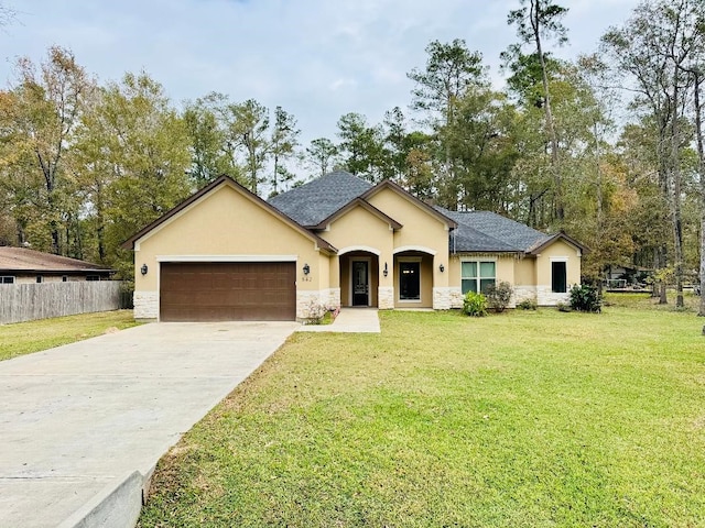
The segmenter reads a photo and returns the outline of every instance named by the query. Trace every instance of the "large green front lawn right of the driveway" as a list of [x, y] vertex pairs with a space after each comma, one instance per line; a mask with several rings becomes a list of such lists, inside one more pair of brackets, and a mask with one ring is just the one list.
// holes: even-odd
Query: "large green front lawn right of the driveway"
[[162, 459], [141, 527], [705, 526], [692, 314], [297, 333]]

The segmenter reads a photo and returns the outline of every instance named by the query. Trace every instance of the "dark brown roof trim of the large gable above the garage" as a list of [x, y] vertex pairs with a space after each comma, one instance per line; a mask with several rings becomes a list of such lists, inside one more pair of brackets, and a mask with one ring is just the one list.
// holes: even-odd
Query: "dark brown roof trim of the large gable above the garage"
[[327, 252], [330, 252], [330, 253], [335, 253], [336, 252], [336, 249], [333, 245], [330, 245], [328, 242], [323, 240], [321, 237], [318, 237], [317, 234], [311, 232], [308, 229], [304, 228], [303, 226], [299, 224], [295, 220], [291, 219], [290, 217], [284, 215], [279, 209], [272, 207], [267, 201], [262, 200], [259, 196], [252, 194], [250, 190], [246, 189], [245, 187], [242, 187], [240, 184], [238, 184], [236, 180], [234, 180], [232, 178], [230, 178], [227, 175], [223, 175], [223, 176], [218, 177], [217, 179], [212, 182], [209, 185], [207, 185], [206, 187], [202, 188], [200, 190], [198, 190], [197, 193], [192, 195], [189, 198], [187, 198], [186, 200], [181, 202], [178, 206], [176, 206], [172, 210], [167, 211], [166, 213], [164, 213], [163, 216], [161, 216], [160, 218], [154, 220], [149, 226], [144, 227], [138, 233], [133, 234], [130, 239], [124, 241], [122, 243], [122, 248], [124, 248], [124, 249], [134, 249], [135, 244], [141, 239], [144, 239], [145, 237], [149, 237], [150, 234], [155, 233], [161, 227], [164, 227], [170, 220], [175, 219], [175, 218], [177, 218], [177, 216], [185, 213], [196, 202], [200, 201], [204, 197], [206, 197], [209, 194], [214, 193], [216, 189], [220, 188], [224, 185], [228, 185], [228, 186], [232, 187], [235, 190], [237, 190], [246, 199], [249, 199], [250, 201], [254, 202], [256, 205], [258, 205], [262, 209], [267, 210], [270, 215], [275, 216], [276, 218], [279, 218], [284, 223], [289, 224], [294, 230], [301, 232], [306, 238], [308, 238], [312, 241], [314, 241], [319, 249], [322, 249], [324, 251], [327, 251]]

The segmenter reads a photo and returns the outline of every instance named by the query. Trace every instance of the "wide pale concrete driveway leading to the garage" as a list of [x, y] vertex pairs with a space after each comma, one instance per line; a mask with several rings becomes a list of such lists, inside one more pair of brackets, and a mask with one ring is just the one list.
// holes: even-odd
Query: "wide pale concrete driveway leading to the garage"
[[152, 323], [0, 362], [0, 526], [57, 526], [149, 474], [296, 328]]

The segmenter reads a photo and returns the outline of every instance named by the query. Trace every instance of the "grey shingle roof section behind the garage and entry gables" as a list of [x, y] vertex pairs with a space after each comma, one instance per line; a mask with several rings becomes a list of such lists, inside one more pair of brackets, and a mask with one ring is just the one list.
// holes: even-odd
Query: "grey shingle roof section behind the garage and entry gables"
[[371, 187], [350, 173], [335, 170], [278, 195], [269, 204], [300, 224], [314, 227]]

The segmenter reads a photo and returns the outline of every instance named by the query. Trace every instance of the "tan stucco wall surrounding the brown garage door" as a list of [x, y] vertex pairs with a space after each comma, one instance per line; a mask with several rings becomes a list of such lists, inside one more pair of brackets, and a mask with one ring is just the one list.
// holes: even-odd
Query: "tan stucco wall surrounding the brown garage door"
[[[159, 292], [159, 257], [259, 255], [296, 258], [297, 290], [328, 288], [329, 263], [305, 234], [282, 221], [228, 184], [138, 241], [134, 252], [135, 292]], [[237, 258], [236, 258], [237, 260]], [[149, 272], [141, 275], [147, 264]], [[311, 273], [303, 274], [308, 264]]]

